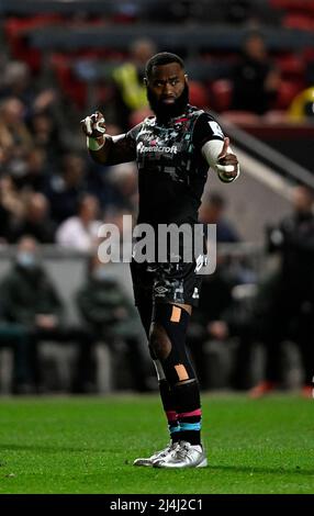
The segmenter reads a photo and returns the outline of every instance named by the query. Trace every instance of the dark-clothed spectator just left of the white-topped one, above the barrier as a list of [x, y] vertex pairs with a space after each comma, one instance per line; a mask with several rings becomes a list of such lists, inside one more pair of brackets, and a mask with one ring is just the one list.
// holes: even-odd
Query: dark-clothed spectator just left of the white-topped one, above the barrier
[[23, 235], [31, 235], [41, 244], [53, 244], [56, 225], [49, 218], [48, 211], [48, 201], [43, 193], [30, 193], [25, 215], [15, 227], [12, 227], [10, 240], [14, 243]]

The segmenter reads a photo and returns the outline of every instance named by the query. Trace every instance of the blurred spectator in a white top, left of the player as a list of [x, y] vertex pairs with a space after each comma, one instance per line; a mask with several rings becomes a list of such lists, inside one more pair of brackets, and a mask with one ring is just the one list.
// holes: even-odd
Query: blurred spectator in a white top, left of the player
[[56, 243], [81, 251], [90, 251], [98, 243], [98, 231], [102, 224], [99, 216], [99, 202], [86, 194], [78, 202], [77, 215], [61, 223], [56, 233]]

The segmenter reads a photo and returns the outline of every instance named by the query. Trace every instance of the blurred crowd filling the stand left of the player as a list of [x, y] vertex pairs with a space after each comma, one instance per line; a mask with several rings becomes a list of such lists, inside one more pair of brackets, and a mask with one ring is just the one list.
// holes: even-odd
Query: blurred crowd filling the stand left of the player
[[42, 244], [89, 250], [105, 216], [135, 210], [134, 166], [114, 175], [94, 166], [78, 133], [81, 114], [71, 117], [61, 90], [37, 92], [25, 64], [8, 61], [1, 86], [1, 244], [29, 234]]

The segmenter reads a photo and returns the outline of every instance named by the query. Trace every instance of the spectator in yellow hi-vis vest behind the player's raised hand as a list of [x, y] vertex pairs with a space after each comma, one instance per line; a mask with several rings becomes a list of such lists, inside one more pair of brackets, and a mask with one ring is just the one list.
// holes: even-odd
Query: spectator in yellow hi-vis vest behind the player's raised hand
[[130, 60], [113, 71], [116, 123], [123, 131], [130, 128], [133, 112], [148, 106], [144, 86], [145, 65], [155, 53], [156, 47], [150, 40], [136, 40], [131, 47]]

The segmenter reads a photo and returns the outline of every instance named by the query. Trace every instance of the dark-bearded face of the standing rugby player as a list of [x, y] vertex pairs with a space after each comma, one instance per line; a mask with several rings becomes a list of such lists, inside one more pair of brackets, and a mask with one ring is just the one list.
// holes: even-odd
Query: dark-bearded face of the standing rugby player
[[187, 82], [184, 70], [178, 63], [154, 66], [147, 87], [157, 102], [171, 105], [182, 94]]

